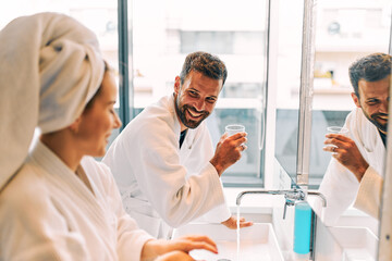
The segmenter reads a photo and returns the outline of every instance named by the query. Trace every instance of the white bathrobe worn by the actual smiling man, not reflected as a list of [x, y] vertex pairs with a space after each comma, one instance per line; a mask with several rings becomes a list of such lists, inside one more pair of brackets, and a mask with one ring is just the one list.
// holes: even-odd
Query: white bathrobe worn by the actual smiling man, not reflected
[[[103, 162], [122, 195], [124, 208], [156, 237], [206, 212], [209, 222], [231, 216], [223, 187], [209, 162], [213, 147], [206, 123], [188, 129], [180, 149], [180, 122], [173, 96], [147, 107], [118, 136]], [[169, 225], [168, 225], [169, 224]]]

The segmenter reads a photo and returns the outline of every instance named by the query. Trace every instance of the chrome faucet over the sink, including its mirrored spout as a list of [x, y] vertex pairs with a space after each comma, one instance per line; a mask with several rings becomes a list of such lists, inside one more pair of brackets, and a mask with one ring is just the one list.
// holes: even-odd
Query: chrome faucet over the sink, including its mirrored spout
[[[284, 210], [283, 210], [283, 220], [285, 219], [285, 213], [286, 213], [286, 207], [289, 206], [294, 206], [295, 201], [298, 200], [304, 200], [305, 199], [305, 192], [301, 189], [290, 189], [290, 190], [245, 190], [238, 194], [237, 198], [236, 198], [236, 206], [241, 204], [241, 200], [242, 198], [247, 195], [247, 194], [269, 194], [269, 195], [284, 195], [285, 198], [285, 203], [284, 203]], [[308, 195], [313, 195], [313, 196], [318, 196], [321, 198], [322, 200], [322, 207], [327, 207], [327, 199], [326, 197], [318, 192], [318, 191], [313, 191], [313, 190], [308, 190], [307, 191]]]

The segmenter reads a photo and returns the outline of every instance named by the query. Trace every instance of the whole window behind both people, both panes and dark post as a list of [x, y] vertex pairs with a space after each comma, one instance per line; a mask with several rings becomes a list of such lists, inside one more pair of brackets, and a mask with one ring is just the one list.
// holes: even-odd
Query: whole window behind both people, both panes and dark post
[[[229, 123], [244, 124], [248, 133], [248, 149], [226, 171], [223, 182], [226, 186], [262, 186], [268, 0], [201, 0], [197, 4], [182, 0], [15, 0], [8, 4], [0, 11], [0, 28], [20, 15], [50, 11], [69, 14], [97, 34], [117, 75], [123, 74], [119, 63], [126, 69], [118, 77], [120, 91], [125, 90], [118, 105], [124, 125], [147, 104], [173, 92], [186, 54], [201, 50], [219, 55], [229, 77], [207, 120], [212, 141], [218, 142]], [[124, 18], [127, 30], [118, 22]]]

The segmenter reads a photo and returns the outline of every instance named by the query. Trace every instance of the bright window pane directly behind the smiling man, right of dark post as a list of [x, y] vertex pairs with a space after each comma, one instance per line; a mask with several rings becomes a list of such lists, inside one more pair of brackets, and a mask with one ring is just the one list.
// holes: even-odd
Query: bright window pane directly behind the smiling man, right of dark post
[[[151, 7], [154, 5], [154, 9]], [[262, 102], [266, 94], [268, 1], [130, 1], [134, 114], [173, 92], [185, 57], [194, 51], [218, 55], [229, 76], [207, 124], [217, 144], [230, 123], [245, 125], [248, 149], [222, 175], [225, 186], [262, 186]], [[132, 12], [131, 12], [132, 10]]]

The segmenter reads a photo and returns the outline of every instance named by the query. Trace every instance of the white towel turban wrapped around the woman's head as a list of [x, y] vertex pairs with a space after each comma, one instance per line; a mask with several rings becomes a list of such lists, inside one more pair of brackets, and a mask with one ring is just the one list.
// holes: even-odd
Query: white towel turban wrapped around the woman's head
[[70, 126], [103, 71], [95, 34], [66, 15], [23, 16], [0, 32], [0, 188], [23, 164], [35, 127]]

